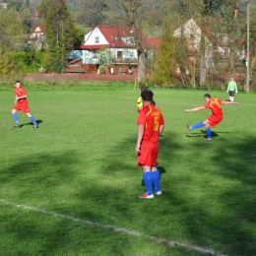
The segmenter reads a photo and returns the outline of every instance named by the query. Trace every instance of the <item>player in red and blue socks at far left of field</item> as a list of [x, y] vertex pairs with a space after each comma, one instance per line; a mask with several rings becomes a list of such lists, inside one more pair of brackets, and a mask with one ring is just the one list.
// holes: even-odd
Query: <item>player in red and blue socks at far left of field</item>
[[19, 118], [18, 118], [18, 114], [17, 111], [22, 110], [24, 113], [26, 113], [28, 115], [28, 117], [31, 119], [32, 123], [33, 123], [33, 128], [38, 128], [38, 124], [35, 122], [31, 112], [30, 112], [30, 108], [28, 105], [28, 101], [27, 101], [27, 93], [24, 87], [21, 86], [21, 82], [20, 81], [16, 81], [15, 82], [15, 103], [16, 105], [14, 106], [13, 110], [12, 110], [12, 114], [15, 120], [15, 125], [14, 128], [20, 127], [20, 122], [19, 122]]

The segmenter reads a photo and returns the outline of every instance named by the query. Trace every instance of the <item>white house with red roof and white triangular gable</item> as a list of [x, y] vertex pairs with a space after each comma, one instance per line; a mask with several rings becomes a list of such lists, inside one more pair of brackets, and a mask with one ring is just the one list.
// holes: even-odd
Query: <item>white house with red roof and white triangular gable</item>
[[[143, 34], [142, 37], [146, 38]], [[148, 42], [154, 44], [154, 41]], [[69, 58], [81, 58], [86, 72], [96, 72], [99, 65], [111, 65], [115, 70], [138, 65], [133, 32], [126, 27], [96, 26], [85, 34], [85, 42], [73, 50]]]

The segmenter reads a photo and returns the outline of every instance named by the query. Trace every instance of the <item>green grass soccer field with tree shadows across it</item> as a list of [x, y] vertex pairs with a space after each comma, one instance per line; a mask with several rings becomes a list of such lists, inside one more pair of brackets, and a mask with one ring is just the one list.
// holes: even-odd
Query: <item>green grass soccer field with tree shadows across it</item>
[[256, 96], [223, 105], [207, 142], [186, 124], [210, 111], [184, 110], [209, 92], [152, 90], [165, 121], [153, 200], [138, 198], [138, 88], [27, 89], [38, 129], [22, 112], [13, 129], [0, 91], [0, 255], [255, 255]]

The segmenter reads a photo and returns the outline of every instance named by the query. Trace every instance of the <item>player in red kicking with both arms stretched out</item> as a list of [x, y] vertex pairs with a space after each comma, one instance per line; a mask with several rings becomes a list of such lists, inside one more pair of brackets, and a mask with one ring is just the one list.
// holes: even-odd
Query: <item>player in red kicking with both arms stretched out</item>
[[197, 129], [197, 128], [202, 128], [205, 127], [206, 129], [206, 134], [207, 134], [207, 140], [212, 141], [212, 131], [211, 131], [211, 126], [216, 127], [224, 118], [223, 115], [223, 108], [221, 104], [236, 104], [237, 102], [233, 101], [225, 101], [220, 98], [212, 98], [209, 94], [206, 94], [204, 96], [204, 99], [206, 103], [202, 106], [198, 106], [195, 108], [191, 109], [186, 109], [185, 112], [192, 112], [192, 111], [199, 111], [205, 108], [209, 108], [212, 111], [212, 115], [210, 115], [205, 121], [190, 125], [188, 124], [187, 127], [190, 131]]

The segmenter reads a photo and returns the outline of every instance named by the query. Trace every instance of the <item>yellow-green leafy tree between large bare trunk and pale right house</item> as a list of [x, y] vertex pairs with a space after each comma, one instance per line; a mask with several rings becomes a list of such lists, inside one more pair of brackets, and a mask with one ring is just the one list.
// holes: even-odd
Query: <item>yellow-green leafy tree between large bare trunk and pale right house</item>
[[[176, 14], [169, 15], [162, 26], [160, 53], [154, 71], [154, 82], [169, 86], [176, 82], [176, 77], [185, 86], [190, 83], [195, 85], [196, 63], [198, 51], [193, 47], [193, 42], [186, 37], [182, 29], [182, 20]], [[173, 31], [181, 28], [179, 36], [174, 36]]]

